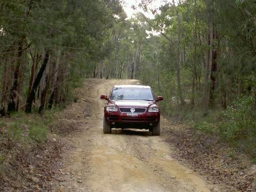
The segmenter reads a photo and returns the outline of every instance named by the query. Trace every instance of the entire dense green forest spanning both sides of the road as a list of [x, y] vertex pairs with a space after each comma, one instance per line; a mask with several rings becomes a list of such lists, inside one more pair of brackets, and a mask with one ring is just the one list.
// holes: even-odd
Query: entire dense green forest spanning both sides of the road
[[154, 19], [118, 0], [1, 1], [1, 116], [65, 106], [83, 78], [140, 79], [166, 116], [256, 158], [256, 2], [150, 2]]

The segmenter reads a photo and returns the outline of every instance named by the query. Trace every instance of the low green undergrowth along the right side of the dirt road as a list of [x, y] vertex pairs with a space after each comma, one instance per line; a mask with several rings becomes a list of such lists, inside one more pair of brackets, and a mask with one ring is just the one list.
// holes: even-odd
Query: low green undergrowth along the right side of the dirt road
[[173, 106], [169, 116], [179, 117], [195, 131], [218, 135], [239, 152], [246, 153], [256, 163], [256, 107], [254, 98], [240, 95], [223, 110], [214, 108], [204, 116], [201, 107]]

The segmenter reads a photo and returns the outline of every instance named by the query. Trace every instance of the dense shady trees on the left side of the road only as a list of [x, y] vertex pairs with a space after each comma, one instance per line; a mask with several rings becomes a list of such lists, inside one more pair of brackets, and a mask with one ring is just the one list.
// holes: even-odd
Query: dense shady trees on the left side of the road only
[[[1, 114], [62, 105], [108, 54], [118, 1], [1, 1]], [[35, 108], [35, 109], [34, 109]]]

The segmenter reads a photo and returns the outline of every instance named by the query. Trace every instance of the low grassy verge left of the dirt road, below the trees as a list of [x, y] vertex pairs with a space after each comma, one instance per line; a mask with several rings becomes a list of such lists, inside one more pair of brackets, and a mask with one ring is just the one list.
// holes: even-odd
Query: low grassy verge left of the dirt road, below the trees
[[15, 150], [26, 150], [36, 145], [43, 145], [49, 135], [49, 124], [54, 120], [54, 113], [59, 108], [45, 110], [43, 114], [11, 114], [0, 122], [0, 166], [10, 162]]

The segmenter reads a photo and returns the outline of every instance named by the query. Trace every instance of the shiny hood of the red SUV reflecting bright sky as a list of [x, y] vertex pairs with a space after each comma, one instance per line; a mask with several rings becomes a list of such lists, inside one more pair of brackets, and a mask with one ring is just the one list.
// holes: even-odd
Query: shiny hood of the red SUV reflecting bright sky
[[145, 100], [111, 100], [112, 105], [117, 107], [149, 107], [154, 101], [145, 101]]

